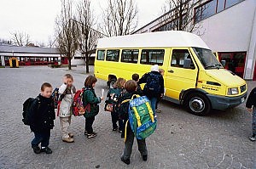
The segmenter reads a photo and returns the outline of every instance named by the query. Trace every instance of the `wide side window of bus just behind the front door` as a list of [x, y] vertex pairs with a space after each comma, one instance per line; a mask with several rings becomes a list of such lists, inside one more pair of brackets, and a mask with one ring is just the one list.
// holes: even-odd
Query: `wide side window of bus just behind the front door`
[[141, 64], [163, 65], [164, 55], [164, 49], [143, 49], [141, 56]]

